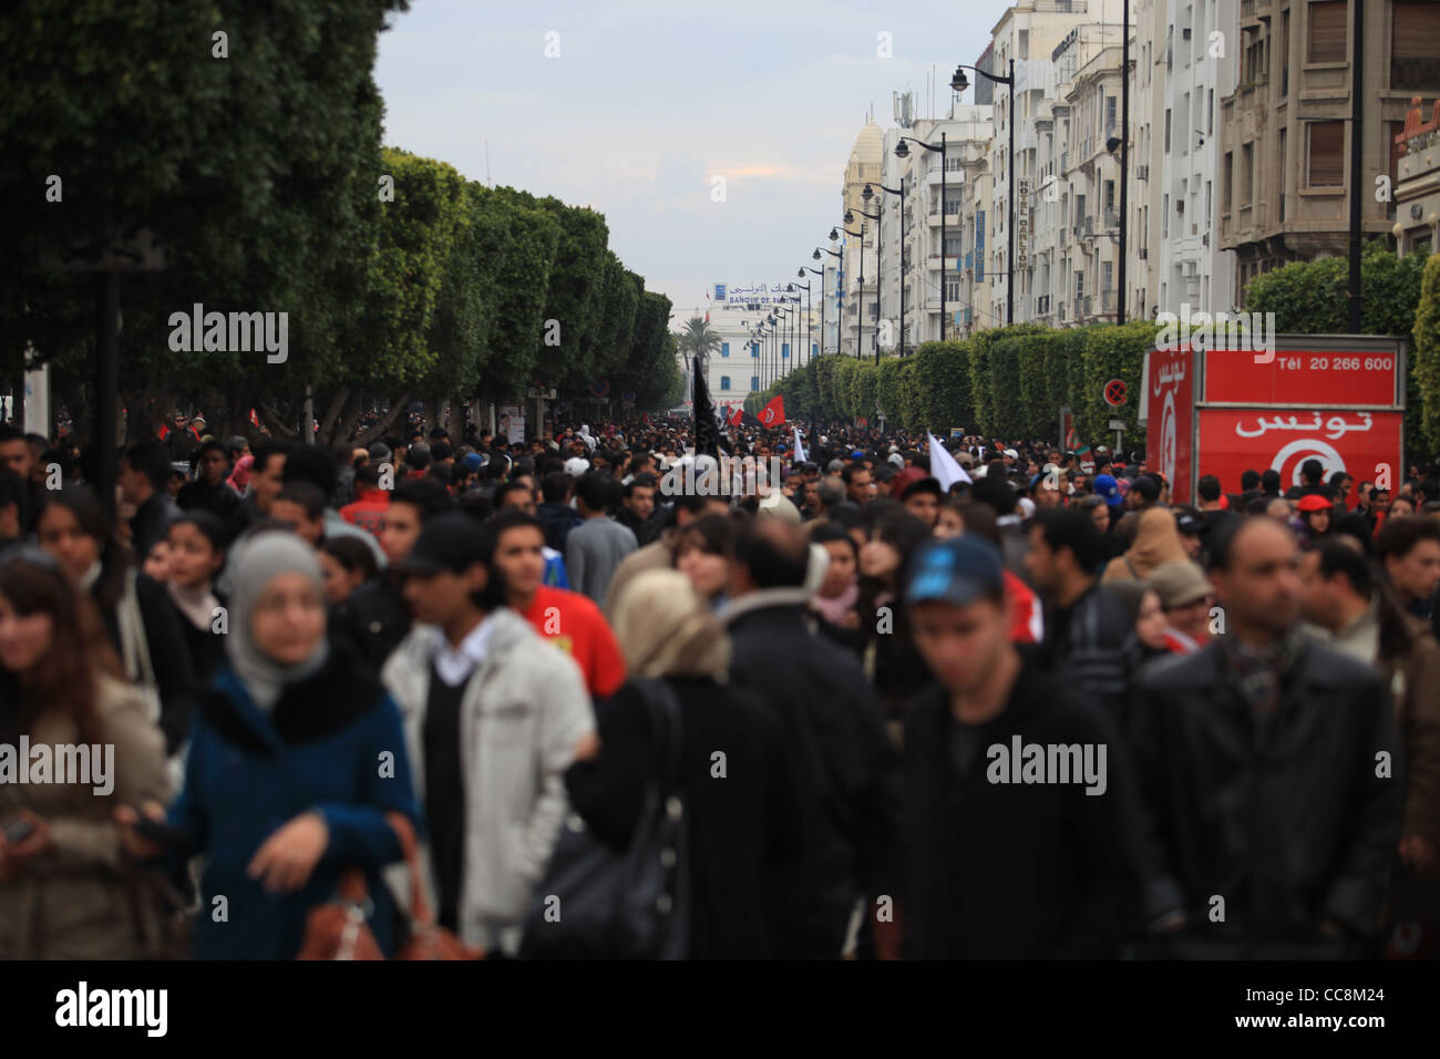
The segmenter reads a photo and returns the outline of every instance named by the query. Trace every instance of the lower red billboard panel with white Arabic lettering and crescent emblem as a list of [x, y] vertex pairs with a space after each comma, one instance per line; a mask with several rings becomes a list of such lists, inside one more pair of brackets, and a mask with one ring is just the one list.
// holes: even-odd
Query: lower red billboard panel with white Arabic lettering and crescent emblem
[[[1210, 366], [1221, 356], [1212, 354]], [[1404, 412], [1270, 406], [1201, 408], [1197, 415], [1200, 477], [1214, 474], [1225, 493], [1238, 493], [1240, 475], [1251, 470], [1279, 471], [1283, 493], [1300, 484], [1300, 464], [1306, 460], [1319, 460], [1326, 480], [1333, 471], [1345, 471], [1355, 481], [1374, 481], [1387, 467], [1388, 477], [1398, 480]]]

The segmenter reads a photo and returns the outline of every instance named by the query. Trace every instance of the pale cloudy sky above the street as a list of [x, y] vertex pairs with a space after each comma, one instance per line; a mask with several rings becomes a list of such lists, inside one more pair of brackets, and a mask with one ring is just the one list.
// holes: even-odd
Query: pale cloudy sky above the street
[[384, 143], [599, 210], [678, 327], [717, 282], [814, 265], [870, 108], [887, 128], [891, 94], [913, 91], [927, 117], [933, 69], [943, 112], [955, 63], [973, 65], [1007, 7], [413, 0], [380, 35]]

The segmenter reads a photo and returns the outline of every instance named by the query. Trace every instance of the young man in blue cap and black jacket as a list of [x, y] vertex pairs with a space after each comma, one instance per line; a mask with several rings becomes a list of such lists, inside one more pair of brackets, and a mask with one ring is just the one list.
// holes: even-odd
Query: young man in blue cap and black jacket
[[1138, 893], [1117, 729], [1024, 664], [988, 540], [930, 545], [906, 602], [939, 682], [906, 716], [907, 954], [1117, 955]]

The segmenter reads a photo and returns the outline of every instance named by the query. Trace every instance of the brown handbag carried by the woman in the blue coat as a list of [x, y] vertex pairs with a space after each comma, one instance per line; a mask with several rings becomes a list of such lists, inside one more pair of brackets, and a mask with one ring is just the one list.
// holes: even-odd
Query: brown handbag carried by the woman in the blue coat
[[[482, 949], [461, 942], [451, 931], [435, 922], [435, 913], [425, 899], [420, 883], [419, 853], [415, 828], [399, 813], [386, 813], [384, 820], [400, 839], [400, 852], [410, 873], [410, 934], [396, 954], [396, 960], [481, 960]], [[305, 919], [305, 939], [297, 960], [384, 960], [366, 918], [370, 895], [364, 872], [346, 869], [336, 886], [336, 899], [311, 909]]]

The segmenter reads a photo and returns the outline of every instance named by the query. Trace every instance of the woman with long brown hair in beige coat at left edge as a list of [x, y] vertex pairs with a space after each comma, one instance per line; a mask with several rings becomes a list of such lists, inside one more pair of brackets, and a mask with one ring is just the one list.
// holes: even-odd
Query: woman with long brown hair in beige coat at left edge
[[94, 604], [36, 548], [0, 555], [0, 742], [30, 749], [29, 782], [0, 782], [0, 958], [154, 954], [157, 905], [111, 814], [168, 795], [164, 739]]

